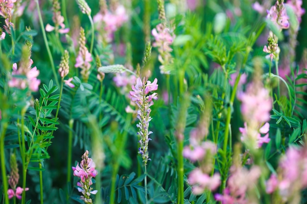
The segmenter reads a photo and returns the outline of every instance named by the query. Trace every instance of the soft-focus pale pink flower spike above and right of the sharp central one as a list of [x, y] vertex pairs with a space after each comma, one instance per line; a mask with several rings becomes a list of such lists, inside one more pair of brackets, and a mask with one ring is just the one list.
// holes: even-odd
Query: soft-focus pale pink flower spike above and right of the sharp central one
[[155, 42], [154, 47], [158, 47], [158, 60], [161, 63], [160, 72], [162, 74], [169, 74], [165, 66], [172, 63], [171, 51], [173, 50], [170, 45], [173, 44], [175, 35], [171, 34], [170, 29], [166, 28], [163, 23], [160, 23], [153, 28], [152, 34]]

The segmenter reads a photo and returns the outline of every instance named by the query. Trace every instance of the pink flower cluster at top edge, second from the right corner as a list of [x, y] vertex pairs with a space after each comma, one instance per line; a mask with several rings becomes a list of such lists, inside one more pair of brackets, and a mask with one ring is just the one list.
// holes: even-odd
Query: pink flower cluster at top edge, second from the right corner
[[275, 5], [272, 6], [267, 13], [267, 18], [270, 19], [280, 30], [289, 28], [289, 17], [287, 16], [283, 0], [277, 0]]

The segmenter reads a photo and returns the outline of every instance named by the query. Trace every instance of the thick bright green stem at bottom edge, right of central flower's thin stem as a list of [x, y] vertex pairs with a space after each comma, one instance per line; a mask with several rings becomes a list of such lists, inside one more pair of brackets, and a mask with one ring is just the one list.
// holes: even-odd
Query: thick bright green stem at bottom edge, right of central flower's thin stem
[[177, 204], [184, 203], [183, 197], [183, 139], [178, 141], [178, 201]]

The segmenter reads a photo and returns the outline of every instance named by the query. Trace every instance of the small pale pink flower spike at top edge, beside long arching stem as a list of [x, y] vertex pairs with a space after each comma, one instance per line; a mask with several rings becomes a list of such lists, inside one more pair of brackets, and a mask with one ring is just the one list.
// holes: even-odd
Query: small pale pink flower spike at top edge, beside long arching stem
[[55, 30], [56, 33], [57, 32], [59, 32], [59, 33], [68, 33], [69, 32], [69, 28], [65, 28], [64, 17], [61, 16], [60, 3], [58, 2], [58, 0], [53, 0], [52, 6], [53, 6], [52, 21], [54, 23], [54, 26], [52, 26], [52, 25], [50, 25], [48, 23], [46, 25], [46, 31], [51, 32], [52, 30]]

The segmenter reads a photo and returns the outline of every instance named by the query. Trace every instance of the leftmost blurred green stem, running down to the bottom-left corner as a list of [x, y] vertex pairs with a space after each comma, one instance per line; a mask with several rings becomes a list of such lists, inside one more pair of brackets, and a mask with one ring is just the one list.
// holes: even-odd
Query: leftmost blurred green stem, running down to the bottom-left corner
[[[7, 128], [7, 122], [3, 122], [1, 124], [1, 138], [0, 138], [0, 159], [1, 159], [1, 172], [2, 172], [2, 182], [3, 182], [3, 191], [4, 191], [4, 199], [5, 204], [9, 204], [8, 202], [8, 182], [6, 177], [6, 169], [5, 169], [5, 155], [4, 155], [4, 136]], [[1, 192], [2, 193], [2, 192]]]

